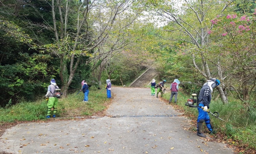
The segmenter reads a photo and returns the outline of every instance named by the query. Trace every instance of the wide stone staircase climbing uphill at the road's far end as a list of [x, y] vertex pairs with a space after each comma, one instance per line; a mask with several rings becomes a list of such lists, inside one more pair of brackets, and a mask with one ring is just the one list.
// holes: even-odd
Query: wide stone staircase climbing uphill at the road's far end
[[152, 79], [157, 76], [157, 72], [154, 68], [147, 69], [144, 73], [140, 75], [137, 79], [135, 79], [129, 87], [145, 87], [148, 86]]

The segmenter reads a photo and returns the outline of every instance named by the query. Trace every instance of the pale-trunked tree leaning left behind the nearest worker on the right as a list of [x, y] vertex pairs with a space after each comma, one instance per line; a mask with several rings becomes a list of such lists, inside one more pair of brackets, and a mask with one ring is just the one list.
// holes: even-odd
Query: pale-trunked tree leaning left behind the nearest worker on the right
[[[156, 12], [160, 18], [163, 18], [165, 22], [168, 22], [171, 29], [170, 32], [179, 32], [179, 35], [173, 36], [169, 40], [183, 40], [191, 45], [190, 51], [193, 55], [193, 62], [195, 68], [203, 75], [205, 78], [211, 78], [212, 73], [209, 68], [206, 55], [208, 54], [205, 48], [210, 43], [209, 31], [212, 29], [213, 22], [211, 19], [220, 15], [225, 11], [232, 1], [218, 1], [218, 0], [196, 0], [188, 1], [184, 0], [183, 6], [175, 7], [177, 2], [175, 1], [143, 1], [144, 5], [147, 6], [151, 11]], [[201, 63], [196, 63], [195, 58], [201, 57]], [[221, 72], [220, 72], [221, 74]], [[222, 81], [226, 77], [219, 76]], [[225, 95], [224, 84], [217, 87], [220, 93], [221, 100], [223, 103], [227, 103], [228, 99]]]

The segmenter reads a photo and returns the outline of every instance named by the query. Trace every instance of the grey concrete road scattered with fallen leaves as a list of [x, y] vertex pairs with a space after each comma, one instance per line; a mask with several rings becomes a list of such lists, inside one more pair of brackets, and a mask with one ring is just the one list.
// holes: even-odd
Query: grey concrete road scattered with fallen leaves
[[0, 153], [233, 153], [226, 144], [188, 131], [191, 121], [151, 96], [150, 89], [112, 87], [111, 92], [108, 116], [18, 124], [1, 136]]

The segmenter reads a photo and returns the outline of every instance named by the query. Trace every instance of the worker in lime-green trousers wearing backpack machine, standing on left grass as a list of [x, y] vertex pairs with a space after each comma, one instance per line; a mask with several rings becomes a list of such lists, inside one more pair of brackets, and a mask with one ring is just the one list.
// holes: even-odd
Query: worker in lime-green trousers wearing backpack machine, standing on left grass
[[48, 86], [47, 93], [44, 96], [47, 101], [47, 115], [46, 118], [51, 117], [51, 109], [53, 108], [53, 115], [52, 117], [56, 117], [57, 112], [57, 106], [58, 106], [58, 98], [62, 95], [62, 92], [60, 92], [59, 87], [57, 86], [54, 79], [50, 80], [50, 85]]

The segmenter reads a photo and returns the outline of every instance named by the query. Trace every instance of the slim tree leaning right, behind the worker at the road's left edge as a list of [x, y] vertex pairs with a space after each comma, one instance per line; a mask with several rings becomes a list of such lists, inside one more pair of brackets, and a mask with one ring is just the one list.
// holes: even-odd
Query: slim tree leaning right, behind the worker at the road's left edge
[[[116, 24], [108, 32], [108, 37], [106, 40], [100, 43], [92, 54], [92, 60], [94, 63], [94, 69], [97, 71], [98, 82], [101, 85], [101, 74], [104, 71], [106, 65], [113, 56], [119, 54], [120, 52], [126, 50], [134, 39], [132, 39], [131, 29], [134, 28], [134, 21], [140, 16], [140, 11], [134, 12], [129, 9], [122, 13], [121, 16], [116, 18]], [[102, 27], [102, 26], [100, 26]], [[109, 76], [110, 77], [110, 76]]]

